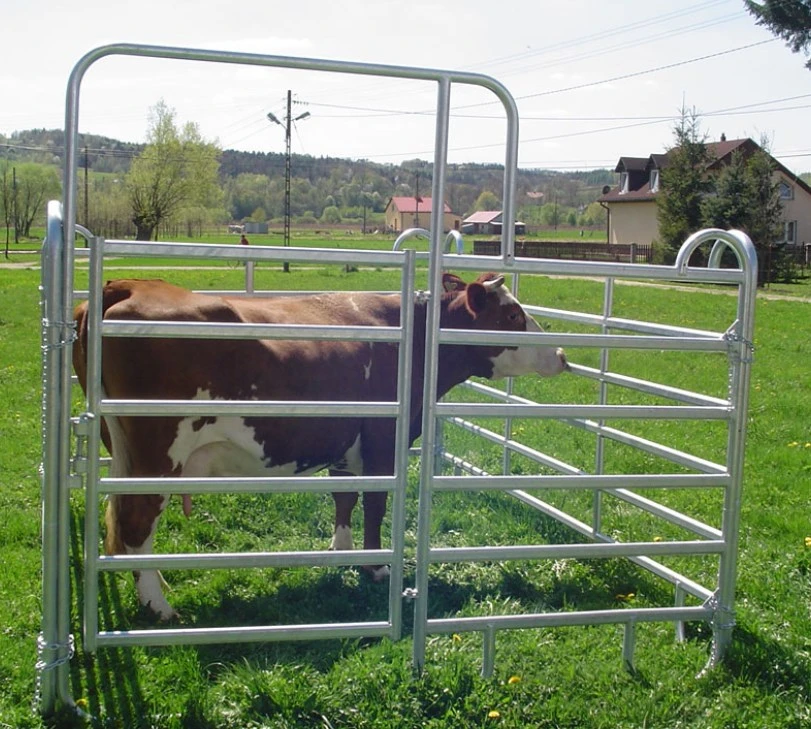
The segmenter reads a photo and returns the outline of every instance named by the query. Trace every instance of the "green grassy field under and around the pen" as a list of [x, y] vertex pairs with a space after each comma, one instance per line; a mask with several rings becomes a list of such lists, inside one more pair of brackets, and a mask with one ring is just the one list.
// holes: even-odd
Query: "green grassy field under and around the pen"
[[[126, 265], [127, 262], [119, 262]], [[117, 264], [118, 265], [118, 264]], [[140, 276], [144, 271], [135, 272]], [[114, 275], [125, 275], [116, 270]], [[151, 274], [148, 274], [151, 275]], [[196, 288], [236, 284], [238, 271], [167, 271], [163, 277]], [[81, 279], [81, 276], [79, 277]], [[40, 629], [39, 478], [40, 358], [38, 273], [0, 271], [0, 508], [5, 528], [0, 590], [0, 727], [39, 727], [31, 709], [36, 636]], [[81, 280], [79, 282], [81, 284]], [[393, 288], [387, 272], [340, 268], [257, 270], [257, 285], [274, 288]], [[602, 287], [589, 281], [522, 281], [533, 303], [597, 312]], [[618, 286], [618, 316], [718, 329], [728, 325], [734, 300], [709, 293]], [[149, 649], [82, 650], [71, 667], [73, 695], [98, 727], [659, 727], [673, 729], [796, 728], [811, 725], [811, 309], [806, 303], [758, 302], [749, 444], [742, 507], [738, 626], [728, 660], [704, 678], [709, 631], [690, 626], [677, 644], [669, 625], [638, 628], [636, 671], [624, 670], [622, 631], [615, 626], [502, 633], [496, 673], [479, 675], [481, 638], [435, 636], [426, 670], [412, 675], [410, 614], [406, 637], [388, 641], [327, 641]], [[556, 330], [565, 325], [554, 324]], [[566, 329], [568, 330], [568, 329]], [[596, 362], [593, 351], [571, 352]], [[725, 359], [651, 353], [612, 355], [632, 374], [723, 395]], [[519, 392], [547, 402], [591, 402], [593, 391], [575, 378], [527, 378]], [[540, 421], [541, 423], [543, 421]], [[712, 424], [636, 424], [635, 432], [707, 458], [719, 457]], [[593, 445], [556, 424], [517, 422], [530, 443], [589, 466]], [[655, 431], [655, 433], [654, 433]], [[484, 465], [497, 456], [453, 436], [455, 451], [475, 453]], [[662, 468], [628, 449], [608, 453], [618, 472]], [[517, 459], [513, 470], [526, 464]], [[416, 472], [416, 466], [414, 467]], [[413, 481], [414, 479], [412, 479]], [[413, 489], [413, 485], [412, 485]], [[578, 516], [587, 504], [566, 494], [556, 503]], [[706, 492], [674, 491], [668, 503], [717, 523], [719, 503]], [[413, 548], [415, 499], [408, 508], [407, 544]], [[74, 577], [80, 570], [82, 503], [74, 497]], [[207, 496], [195, 500], [191, 519], [177, 504], [167, 510], [157, 549], [236, 551], [323, 548], [331, 532], [331, 499], [308, 495]], [[607, 529], [624, 539], [681, 536], [657, 529], [617, 508]], [[538, 540], [570, 535], [528, 515], [499, 495], [447, 494], [434, 505], [437, 543], [448, 545]], [[386, 535], [386, 538], [387, 535]], [[413, 578], [407, 564], [407, 584]], [[679, 569], [712, 583], [715, 562], [678, 562]], [[353, 569], [172, 572], [170, 599], [183, 625], [378, 620], [386, 586]], [[77, 588], [77, 592], [79, 589]], [[101, 585], [107, 627], [146, 627], [129, 575]], [[667, 604], [661, 583], [622, 561], [554, 564], [442, 565], [431, 574], [432, 616], [520, 613], [541, 609], [610, 608]], [[76, 623], [77, 638], [80, 627]], [[61, 717], [64, 726], [79, 719]]]

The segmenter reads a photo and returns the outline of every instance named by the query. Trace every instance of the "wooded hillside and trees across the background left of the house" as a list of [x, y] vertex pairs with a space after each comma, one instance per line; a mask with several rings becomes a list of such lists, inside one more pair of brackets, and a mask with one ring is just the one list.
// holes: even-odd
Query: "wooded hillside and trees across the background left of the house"
[[[61, 131], [0, 136], [0, 167], [20, 172], [31, 164], [57, 174], [63, 150]], [[78, 164], [78, 220], [108, 237], [151, 239], [162, 230], [194, 235], [284, 215], [284, 155], [221, 150], [196, 124], [179, 127], [163, 101], [150, 109], [146, 144], [81, 135]], [[391, 197], [431, 194], [433, 165], [419, 159], [393, 165], [294, 154], [291, 166], [290, 211], [298, 223], [360, 228], [365, 220], [373, 229], [382, 226]], [[461, 216], [498, 210], [503, 174], [501, 165], [449, 165], [446, 201]], [[604, 211], [592, 203], [613, 182], [612, 171], [522, 169], [517, 177], [518, 215], [527, 224], [604, 225]], [[58, 196], [51, 186], [45, 199]]]

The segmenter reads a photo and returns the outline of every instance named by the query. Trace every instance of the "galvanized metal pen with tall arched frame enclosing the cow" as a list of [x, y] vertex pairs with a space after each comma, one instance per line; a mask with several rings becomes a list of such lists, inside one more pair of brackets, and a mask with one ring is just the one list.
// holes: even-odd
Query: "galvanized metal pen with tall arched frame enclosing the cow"
[[[154, 493], [156, 484], [148, 479], [110, 479], [102, 476], [98, 458], [100, 418], [105, 414], [163, 414], [183, 415], [215, 414], [228, 412], [231, 415], [244, 413], [246, 403], [216, 404], [173, 401], [171, 403], [115, 403], [101, 396], [99, 382], [101, 336], [149, 336], [160, 332], [161, 336], [216, 336], [216, 337], [262, 337], [291, 338], [299, 334], [295, 327], [251, 326], [234, 330], [234, 325], [217, 327], [216, 332], [202, 334], [196, 325], [178, 324], [172, 327], [139, 326], [128, 328], [126, 323], [102, 323], [100, 316], [100, 291], [103, 281], [105, 255], [156, 255], [162, 257], [203, 256], [210, 258], [230, 257], [248, 264], [257, 261], [289, 261], [320, 263], [352, 263], [356, 265], [393, 266], [402, 271], [401, 290], [403, 311], [410, 311], [414, 289], [415, 260], [424, 256], [412, 251], [363, 252], [306, 249], [234, 246], [211, 246], [180, 243], [150, 243], [147, 245], [106, 241], [94, 236], [75, 223], [76, 176], [77, 176], [77, 130], [78, 101], [81, 79], [90, 65], [111, 55], [161, 57], [179, 60], [211, 61], [222, 63], [250, 64], [260, 66], [283, 66], [295, 69], [321, 70], [348, 74], [378, 75], [410, 78], [437, 85], [436, 143], [434, 153], [434, 199], [444, 199], [445, 170], [448, 149], [448, 126], [450, 87], [452, 84], [473, 84], [492, 91], [504, 106], [507, 117], [506, 161], [504, 177], [504, 218], [502, 256], [500, 259], [457, 253], [452, 262], [447, 260], [441, 240], [442, 206], [434, 206], [428, 259], [429, 291], [441, 289], [441, 274], [444, 265], [457, 270], [482, 269], [513, 274], [513, 287], [517, 292], [520, 274], [577, 275], [600, 277], [605, 281], [605, 307], [602, 315], [594, 316], [577, 312], [537, 309], [547, 318], [575, 321], [595, 326], [596, 334], [473, 334], [471, 332], [439, 330], [438, 297], [431, 297], [428, 306], [425, 393], [420, 455], [423, 464], [432, 463], [439, 454], [441, 459], [457, 469], [457, 475], [435, 473], [424, 467], [420, 471], [419, 508], [417, 523], [416, 577], [413, 587], [403, 585], [404, 545], [404, 498], [405, 473], [408, 459], [407, 398], [405, 387], [410, 376], [411, 350], [410, 321], [403, 317], [401, 326], [391, 330], [355, 328], [351, 331], [307, 332], [302, 338], [364, 339], [368, 341], [400, 342], [398, 400], [393, 403], [302, 403], [302, 417], [322, 415], [329, 411], [357, 414], [359, 409], [369, 417], [396, 417], [399, 422], [397, 435], [397, 466], [391, 478], [365, 478], [347, 484], [336, 484], [332, 479], [266, 479], [253, 484], [237, 483], [233, 479], [200, 480], [197, 484], [184, 483], [190, 493], [235, 491], [235, 490], [388, 490], [393, 493], [392, 547], [382, 551], [261, 553], [242, 555], [154, 555], [150, 557], [102, 557], [98, 553], [98, 507], [99, 497], [105, 493]], [[179, 643], [272, 641], [292, 639], [315, 639], [353, 636], [390, 636], [398, 638], [402, 632], [402, 598], [414, 603], [414, 663], [419, 668], [425, 661], [426, 637], [431, 633], [478, 631], [484, 635], [484, 672], [492, 671], [496, 634], [502, 629], [539, 627], [551, 625], [575, 625], [595, 623], [620, 623], [626, 626], [624, 655], [631, 660], [634, 625], [644, 621], [703, 620], [711, 623], [714, 632], [711, 661], [717, 660], [729, 642], [733, 625], [733, 602], [736, 574], [736, 549], [738, 515], [745, 440], [746, 407], [751, 362], [754, 293], [756, 282], [756, 259], [751, 242], [738, 232], [704, 231], [693, 236], [682, 247], [675, 266], [640, 266], [630, 264], [574, 263], [516, 259], [514, 256], [514, 226], [509, 221], [515, 217], [515, 171], [517, 167], [518, 117], [515, 103], [500, 84], [489, 77], [427, 69], [389, 67], [368, 64], [351, 64], [313, 59], [294, 59], [276, 56], [257, 56], [213, 51], [200, 51], [150, 46], [116, 45], [92, 51], [85, 56], [71, 74], [68, 86], [66, 112], [66, 156], [64, 207], [59, 203], [49, 206], [48, 232], [43, 248], [43, 628], [40, 636], [40, 660], [37, 669], [40, 676], [41, 708], [50, 712], [57, 703], [71, 705], [68, 686], [68, 662], [73, 652], [70, 624], [71, 598], [69, 594], [68, 555], [70, 552], [70, 503], [71, 488], [83, 488], [86, 498], [85, 545], [84, 545], [84, 646], [87, 650], [120, 645], [165, 645]], [[71, 412], [71, 341], [72, 308], [74, 292], [74, 262], [81, 249], [75, 248], [75, 237], [80, 235], [89, 244], [91, 336], [87, 407], [78, 417]], [[718, 241], [710, 256], [707, 269], [690, 268], [690, 254], [706, 241]], [[457, 239], [457, 249], [461, 250]], [[738, 258], [738, 269], [721, 269], [721, 253], [731, 247]], [[237, 248], [238, 250], [235, 250]], [[247, 267], [250, 271], [250, 266]], [[724, 332], [711, 333], [629, 322], [613, 317], [611, 300], [615, 278], [644, 278], [653, 280], [678, 280], [699, 283], [735, 284], [738, 287], [738, 315]], [[250, 277], [246, 289], [252, 289]], [[236, 325], [239, 326], [239, 325]], [[627, 330], [633, 334], [616, 334]], [[598, 348], [601, 365], [598, 369], [573, 365], [573, 372], [599, 382], [600, 398], [587, 405], [541, 405], [524, 400], [513, 394], [511, 386], [504, 391], [483, 385], [472, 385], [479, 393], [495, 398], [495, 403], [437, 403], [436, 375], [440, 344], [522, 344], [527, 341], [564, 347]], [[681, 350], [688, 352], [724, 352], [729, 358], [728, 397], [720, 399], [683, 389], [659, 385], [654, 382], [635, 381], [633, 378], [612, 372], [609, 367], [609, 352], [614, 349]], [[631, 391], [652, 393], [670, 398], [678, 405], [609, 405], [608, 388], [622, 387]], [[273, 403], [259, 403], [263, 414], [289, 415], [282, 413]], [[251, 408], [255, 405], [251, 404]], [[252, 412], [256, 412], [252, 410]], [[504, 418], [506, 429], [502, 434], [476, 425], [478, 417]], [[539, 417], [556, 419], [572, 427], [593, 433], [600, 443], [608, 440], [624, 442], [647, 452], [656, 453], [692, 469], [695, 473], [664, 475], [616, 476], [602, 473], [602, 457], [598, 457], [593, 473], [563, 463], [554, 457], [540, 453], [532, 445], [521, 444], [509, 431], [514, 417]], [[666, 419], [717, 419], [727, 424], [728, 443], [724, 463], [709, 463], [675, 448], [653, 443], [608, 427], [606, 419], [635, 418]], [[502, 475], [484, 472], [476, 464], [447, 452], [442, 446], [442, 423], [469, 428], [491, 442], [504, 448], [505, 468]], [[451, 425], [444, 427], [451, 427]], [[511, 476], [509, 460], [511, 453], [529, 457], [556, 475]], [[594, 493], [594, 516], [591, 524], [571, 517], [528, 490], [586, 489]], [[653, 500], [638, 496], [638, 488], [715, 488], [724, 491], [723, 524], [721, 529], [699, 524], [686, 515], [657, 505]], [[431, 506], [436, 494], [448, 490], [496, 489], [513, 494], [531, 507], [562, 521], [573, 530], [591, 539], [593, 544], [529, 545], [529, 546], [482, 546], [470, 548], [447, 548], [432, 546], [430, 539]], [[159, 489], [165, 490], [165, 489]], [[621, 499], [647, 513], [679, 524], [692, 530], [698, 537], [683, 542], [620, 543], [602, 533], [600, 528], [601, 503], [603, 499]], [[720, 566], [717, 584], [704, 587], [659, 564], [654, 558], [669, 554], [715, 554]], [[668, 580], [675, 586], [674, 606], [648, 608], [645, 610], [623, 609], [590, 611], [583, 613], [552, 613], [521, 616], [487, 616], [483, 618], [432, 618], [428, 614], [428, 575], [431, 565], [439, 562], [510, 560], [510, 559], [559, 559], [578, 557], [627, 557]], [[290, 566], [290, 565], [360, 565], [380, 564], [390, 561], [392, 576], [389, 588], [388, 619], [378, 622], [265, 626], [253, 628], [182, 629], [103, 631], [98, 625], [98, 579], [99, 573], [111, 570], [222, 568], [234, 566]], [[684, 605], [686, 596], [702, 601], [698, 606]]]

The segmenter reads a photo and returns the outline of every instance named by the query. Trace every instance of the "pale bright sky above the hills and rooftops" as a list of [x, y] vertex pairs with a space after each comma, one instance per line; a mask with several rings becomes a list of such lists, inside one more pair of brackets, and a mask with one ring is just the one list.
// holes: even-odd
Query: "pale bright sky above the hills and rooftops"
[[[520, 114], [520, 167], [613, 168], [665, 151], [682, 108], [709, 141], [768, 140], [811, 171], [811, 71], [742, 0], [3, 0], [0, 133], [61, 129], [76, 63], [115, 43], [317, 58], [491, 76]], [[15, 30], [16, 29], [16, 30]], [[13, 31], [13, 32], [10, 32]], [[200, 61], [106, 56], [85, 74], [79, 131], [144, 142], [163, 101], [223, 149], [398, 164], [433, 159], [437, 84]], [[450, 93], [451, 163], [503, 163], [501, 103]], [[2, 153], [2, 148], [0, 148]]]

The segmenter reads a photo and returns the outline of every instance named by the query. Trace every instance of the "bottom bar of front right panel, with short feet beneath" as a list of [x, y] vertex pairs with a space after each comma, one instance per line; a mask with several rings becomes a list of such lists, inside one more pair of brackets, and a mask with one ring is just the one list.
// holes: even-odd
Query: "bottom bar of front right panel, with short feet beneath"
[[468, 618], [434, 618], [428, 620], [429, 633], [479, 632], [488, 628], [515, 630], [520, 628], [548, 628], [574, 625], [610, 625], [620, 623], [675, 623], [681, 621], [709, 621], [711, 608], [662, 607], [626, 608], [622, 610], [582, 610], [578, 612], [532, 613], [528, 615], [485, 615]]

